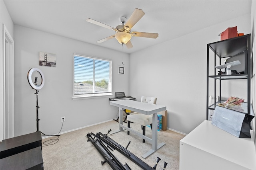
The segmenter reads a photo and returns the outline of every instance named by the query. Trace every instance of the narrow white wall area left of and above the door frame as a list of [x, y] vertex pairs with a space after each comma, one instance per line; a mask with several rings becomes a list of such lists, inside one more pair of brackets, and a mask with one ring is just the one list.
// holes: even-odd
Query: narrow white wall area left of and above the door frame
[[10, 15], [6, 9], [6, 6], [3, 0], [0, 0], [0, 141], [3, 137], [3, 108], [4, 108], [4, 100], [3, 100], [3, 24], [5, 24], [6, 28], [8, 29], [10, 35], [14, 37], [14, 24]]

